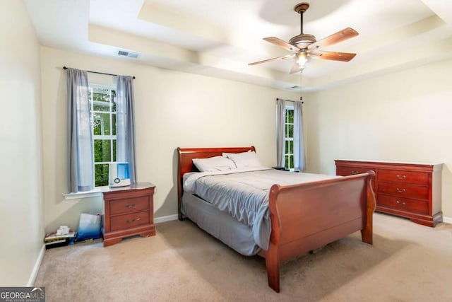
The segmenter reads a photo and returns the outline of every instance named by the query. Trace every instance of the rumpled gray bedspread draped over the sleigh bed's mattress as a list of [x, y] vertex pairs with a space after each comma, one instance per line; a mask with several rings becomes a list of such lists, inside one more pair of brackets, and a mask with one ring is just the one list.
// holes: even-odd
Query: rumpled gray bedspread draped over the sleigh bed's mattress
[[268, 249], [271, 223], [268, 192], [274, 184], [295, 185], [335, 178], [336, 176], [289, 173], [270, 168], [235, 169], [219, 172], [190, 173], [184, 180], [184, 190], [206, 200], [249, 226], [256, 244]]

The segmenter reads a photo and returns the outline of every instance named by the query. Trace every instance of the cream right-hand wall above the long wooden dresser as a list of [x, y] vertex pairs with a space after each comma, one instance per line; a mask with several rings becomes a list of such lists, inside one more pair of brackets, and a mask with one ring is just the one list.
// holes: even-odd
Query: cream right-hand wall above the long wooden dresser
[[334, 159], [444, 163], [442, 210], [452, 222], [452, 60], [313, 93], [305, 98], [308, 169]]

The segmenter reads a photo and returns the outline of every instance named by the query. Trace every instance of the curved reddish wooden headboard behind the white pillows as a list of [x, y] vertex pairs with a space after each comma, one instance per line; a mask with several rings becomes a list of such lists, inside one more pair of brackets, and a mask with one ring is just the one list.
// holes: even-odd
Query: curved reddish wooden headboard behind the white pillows
[[197, 171], [193, 164], [193, 158], [208, 158], [221, 156], [222, 153], [241, 153], [247, 151], [256, 151], [251, 147], [225, 147], [225, 148], [177, 148], [179, 153], [179, 164], [177, 167], [177, 214], [182, 220], [181, 202], [182, 202], [182, 178], [185, 173]]

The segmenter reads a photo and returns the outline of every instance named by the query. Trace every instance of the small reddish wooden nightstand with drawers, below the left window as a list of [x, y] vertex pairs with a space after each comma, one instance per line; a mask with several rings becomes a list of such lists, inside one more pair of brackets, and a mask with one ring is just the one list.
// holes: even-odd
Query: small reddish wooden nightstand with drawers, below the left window
[[112, 187], [104, 192], [104, 246], [119, 243], [122, 238], [155, 235], [154, 190], [150, 182], [127, 187]]

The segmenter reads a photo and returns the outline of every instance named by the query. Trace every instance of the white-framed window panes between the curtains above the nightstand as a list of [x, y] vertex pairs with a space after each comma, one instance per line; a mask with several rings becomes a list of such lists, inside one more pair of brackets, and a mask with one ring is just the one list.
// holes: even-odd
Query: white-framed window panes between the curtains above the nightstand
[[109, 185], [109, 163], [117, 161], [116, 87], [89, 84], [94, 186]]

